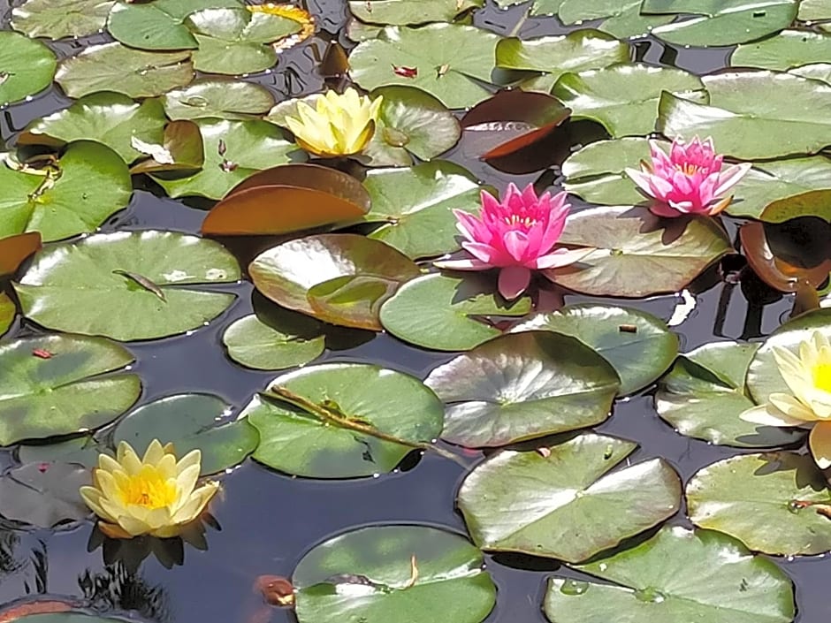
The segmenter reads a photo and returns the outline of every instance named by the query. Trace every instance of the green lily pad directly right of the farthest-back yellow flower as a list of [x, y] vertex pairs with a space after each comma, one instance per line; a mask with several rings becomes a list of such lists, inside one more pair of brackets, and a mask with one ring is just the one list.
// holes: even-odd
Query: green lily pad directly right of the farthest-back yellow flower
[[409, 166], [413, 156], [432, 160], [461, 137], [454, 114], [420, 88], [381, 87], [370, 95], [384, 97], [375, 134], [362, 152], [370, 158], [370, 166]]

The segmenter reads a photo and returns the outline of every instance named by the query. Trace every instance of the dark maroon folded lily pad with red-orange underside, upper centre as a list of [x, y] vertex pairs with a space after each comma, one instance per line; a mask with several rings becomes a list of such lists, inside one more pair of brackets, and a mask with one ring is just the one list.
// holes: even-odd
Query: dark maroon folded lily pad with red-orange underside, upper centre
[[465, 138], [483, 160], [513, 154], [542, 141], [571, 116], [556, 97], [530, 91], [500, 91], [461, 119]]

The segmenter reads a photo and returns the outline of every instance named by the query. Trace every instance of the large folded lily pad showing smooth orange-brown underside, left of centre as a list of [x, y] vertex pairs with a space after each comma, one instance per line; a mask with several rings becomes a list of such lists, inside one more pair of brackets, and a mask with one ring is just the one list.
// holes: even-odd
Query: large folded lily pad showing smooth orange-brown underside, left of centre
[[300, 232], [348, 223], [370, 211], [361, 182], [318, 164], [283, 164], [235, 186], [202, 224], [206, 235]]

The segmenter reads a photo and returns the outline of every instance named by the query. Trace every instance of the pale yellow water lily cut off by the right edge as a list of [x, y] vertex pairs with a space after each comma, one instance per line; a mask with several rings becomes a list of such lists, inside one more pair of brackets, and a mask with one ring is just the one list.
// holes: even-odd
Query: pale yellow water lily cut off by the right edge
[[820, 331], [799, 344], [799, 356], [774, 346], [779, 373], [791, 393], [772, 393], [768, 404], [745, 411], [746, 422], [766, 426], [808, 426], [813, 459], [831, 467], [831, 345]]

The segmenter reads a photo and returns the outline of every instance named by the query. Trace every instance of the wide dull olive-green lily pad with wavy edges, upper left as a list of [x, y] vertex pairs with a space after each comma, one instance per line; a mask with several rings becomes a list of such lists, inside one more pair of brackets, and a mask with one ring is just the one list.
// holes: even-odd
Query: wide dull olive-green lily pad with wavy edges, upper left
[[55, 80], [70, 97], [116, 91], [130, 97], [155, 97], [194, 79], [190, 52], [145, 52], [119, 42], [92, 45], [65, 58]]

